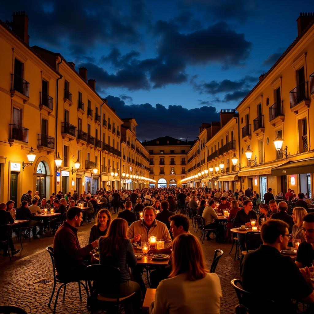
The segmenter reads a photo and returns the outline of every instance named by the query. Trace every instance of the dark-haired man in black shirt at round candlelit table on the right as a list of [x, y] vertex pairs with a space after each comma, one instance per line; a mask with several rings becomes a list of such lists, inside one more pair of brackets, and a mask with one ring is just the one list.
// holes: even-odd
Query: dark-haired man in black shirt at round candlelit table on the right
[[[253, 203], [250, 200], [246, 199], [243, 202], [243, 207], [244, 208], [238, 210], [236, 213], [236, 217], [234, 220], [235, 227], [241, 227], [241, 225], [250, 226], [250, 219], [257, 218], [256, 213], [253, 210]], [[245, 251], [245, 234], [239, 233], [237, 236], [241, 251]]]

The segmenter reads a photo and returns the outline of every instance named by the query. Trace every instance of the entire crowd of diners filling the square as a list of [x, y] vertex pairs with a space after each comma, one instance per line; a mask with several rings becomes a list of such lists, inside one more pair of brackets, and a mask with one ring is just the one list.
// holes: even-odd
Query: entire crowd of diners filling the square
[[[47, 228], [53, 230], [55, 263], [61, 278], [88, 279], [86, 267], [93, 263], [119, 268], [120, 296], [134, 293], [130, 301], [126, 302], [126, 313], [140, 312], [141, 298], [146, 292], [142, 279], [143, 266], [137, 264], [133, 246], [140, 245], [151, 234], [157, 235], [158, 239], [164, 240], [164, 248], [152, 247], [148, 254], [169, 254], [171, 259], [166, 267], [150, 272], [150, 285], [157, 290], [149, 312], [219, 313], [222, 299], [219, 277], [209, 273], [204, 266], [200, 242], [189, 233], [188, 214], [202, 217], [205, 228], [215, 229], [217, 242], [230, 240], [233, 227], [249, 226], [250, 220], [256, 219], [257, 225], [261, 225], [263, 245], [248, 252], [243, 259], [243, 288], [254, 294], [262, 293], [267, 285], [266, 278], [260, 279], [258, 285], [250, 280], [256, 270], [263, 269], [270, 261], [274, 265], [281, 265], [280, 271], [267, 267], [267, 273], [272, 278], [280, 279], [275, 280], [269, 300], [275, 302], [276, 306], [287, 301], [285, 309], [287, 313], [292, 313], [295, 308], [290, 306], [291, 299], [297, 297], [308, 303], [314, 302], [310, 279], [314, 262], [314, 213], [309, 213], [310, 203], [303, 193], [299, 193], [297, 198], [293, 196], [294, 199], [290, 199], [291, 195], [287, 193], [285, 199], [278, 198], [280, 201], [276, 201], [269, 188], [262, 202], [258, 193], [251, 189], [245, 192], [211, 190], [208, 187], [110, 192], [99, 189], [94, 194], [90, 191], [80, 195], [76, 191], [66, 195], [58, 192], [48, 200], [40, 199], [37, 192], [32, 197], [32, 192], [28, 191], [23, 194], [20, 206], [16, 209], [11, 200], [0, 204], [0, 224], [13, 223], [14, 219], [28, 220], [24, 225], [33, 229], [33, 238], [43, 236]], [[295, 205], [292, 215], [287, 212], [289, 202]], [[83, 205], [80, 206], [80, 203]], [[100, 208], [95, 207], [96, 204], [101, 204]], [[50, 207], [54, 207], [55, 212], [61, 215], [48, 224], [38, 214]], [[221, 223], [217, 217], [226, 210], [226, 223]], [[78, 227], [83, 220], [91, 217], [90, 214], [96, 214], [95, 224], [91, 226], [88, 244], [81, 247], [77, 236]], [[113, 214], [117, 214], [115, 219]], [[237, 238], [241, 251], [245, 251], [245, 235], [237, 234]], [[207, 239], [211, 240], [209, 232]], [[295, 263], [290, 257], [280, 254], [292, 239], [302, 242]], [[14, 248], [12, 237], [9, 248], [12, 255], [19, 252]], [[7, 255], [6, 248], [3, 249], [4, 255]], [[95, 250], [99, 251], [99, 261], [93, 255]], [[295, 285], [300, 289], [279, 293], [287, 285], [283, 280], [287, 273], [293, 275]], [[197, 305], [193, 302], [195, 298], [198, 299]]]

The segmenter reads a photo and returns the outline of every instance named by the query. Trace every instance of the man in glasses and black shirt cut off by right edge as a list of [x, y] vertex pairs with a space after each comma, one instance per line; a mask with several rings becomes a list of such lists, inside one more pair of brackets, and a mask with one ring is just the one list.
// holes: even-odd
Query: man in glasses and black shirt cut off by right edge
[[295, 260], [299, 268], [313, 266], [314, 260], [314, 213], [305, 215], [302, 220], [305, 241], [299, 245]]

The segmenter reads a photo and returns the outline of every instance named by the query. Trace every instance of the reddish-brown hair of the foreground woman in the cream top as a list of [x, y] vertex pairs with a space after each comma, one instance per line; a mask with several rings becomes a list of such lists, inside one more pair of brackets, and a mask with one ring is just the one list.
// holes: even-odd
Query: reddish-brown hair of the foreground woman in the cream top
[[172, 271], [169, 277], [186, 273], [188, 280], [195, 281], [203, 279], [209, 272], [204, 267], [201, 245], [192, 234], [185, 233], [177, 236], [172, 242], [172, 249]]

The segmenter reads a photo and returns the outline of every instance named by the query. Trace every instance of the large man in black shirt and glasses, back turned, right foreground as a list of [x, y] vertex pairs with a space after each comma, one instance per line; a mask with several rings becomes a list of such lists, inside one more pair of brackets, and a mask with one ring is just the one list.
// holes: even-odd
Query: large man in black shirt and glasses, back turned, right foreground
[[[296, 306], [291, 299], [306, 303], [314, 302], [314, 292], [309, 285], [311, 282], [309, 269], [300, 271], [291, 258], [280, 254], [281, 250], [287, 248], [290, 236], [288, 225], [284, 221], [269, 219], [263, 223], [261, 229], [263, 245], [257, 250], [248, 252], [243, 258], [241, 264], [243, 289], [253, 293], [256, 300], [260, 300], [261, 295], [265, 299], [264, 302], [258, 303], [258, 311], [256, 300], [251, 298], [244, 300], [244, 305], [249, 310], [254, 307], [254, 313], [296, 313]], [[268, 267], [267, 276], [260, 277], [258, 284], [255, 284], [252, 278], [256, 274], [256, 269], [263, 269], [269, 261], [277, 267]], [[274, 306], [270, 306], [267, 300], [273, 300]]]

